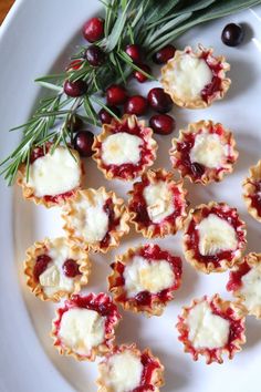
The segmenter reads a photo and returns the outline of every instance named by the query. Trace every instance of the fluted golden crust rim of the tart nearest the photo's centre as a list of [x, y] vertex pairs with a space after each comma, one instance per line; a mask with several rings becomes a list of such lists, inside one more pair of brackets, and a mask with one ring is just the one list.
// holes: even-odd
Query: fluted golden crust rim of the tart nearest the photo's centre
[[[173, 219], [173, 221], [163, 220], [163, 224], [154, 224], [150, 221], [149, 225], [144, 224], [143, 221], [137, 220], [137, 213], [130, 210], [130, 205], [136, 195], [139, 195], [139, 185], [145, 180], [149, 180], [149, 184], [156, 184], [158, 180], [166, 182], [169, 187], [176, 188], [179, 192], [179, 199], [182, 204], [181, 214]], [[128, 200], [128, 210], [129, 210], [129, 221], [134, 224], [135, 230], [137, 233], [142, 233], [142, 235], [146, 238], [156, 238], [156, 237], [165, 237], [167, 235], [175, 235], [179, 229], [184, 226], [184, 220], [187, 217], [187, 190], [184, 188], [182, 180], [175, 182], [173, 179], [173, 173], [165, 171], [164, 168], [159, 168], [157, 171], [148, 169], [143, 174], [142, 180], [134, 183], [133, 189], [128, 192], [130, 198]]]

